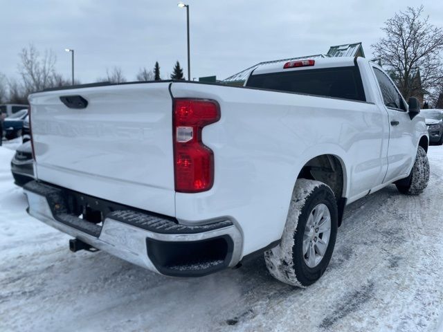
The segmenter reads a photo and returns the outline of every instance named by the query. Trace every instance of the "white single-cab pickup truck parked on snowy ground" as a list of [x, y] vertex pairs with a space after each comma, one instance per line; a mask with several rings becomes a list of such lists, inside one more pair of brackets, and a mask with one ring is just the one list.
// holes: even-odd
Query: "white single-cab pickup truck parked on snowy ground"
[[29, 98], [28, 213], [149, 270], [196, 277], [263, 254], [271, 275], [324, 273], [345, 205], [427, 185], [428, 131], [367, 59], [259, 68], [243, 87], [91, 84]]

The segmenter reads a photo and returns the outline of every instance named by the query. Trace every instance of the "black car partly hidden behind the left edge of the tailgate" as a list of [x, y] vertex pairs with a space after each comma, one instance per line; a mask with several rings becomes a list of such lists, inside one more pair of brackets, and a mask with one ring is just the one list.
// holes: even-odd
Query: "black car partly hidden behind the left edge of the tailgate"
[[16, 185], [23, 187], [34, 180], [33, 148], [30, 142], [20, 145], [11, 160], [11, 172]]

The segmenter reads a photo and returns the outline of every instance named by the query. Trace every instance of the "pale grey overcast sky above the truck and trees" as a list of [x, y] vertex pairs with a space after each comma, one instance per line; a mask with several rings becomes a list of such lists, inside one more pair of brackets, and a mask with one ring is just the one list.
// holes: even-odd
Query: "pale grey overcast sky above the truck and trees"
[[[32, 43], [57, 56], [57, 71], [82, 83], [120, 66], [127, 80], [139, 68], [161, 67], [168, 78], [174, 62], [186, 67], [186, 10], [175, 0], [0, 0], [0, 73], [18, 77], [21, 48]], [[326, 53], [329, 46], [383, 36], [383, 22], [412, 0], [239, 1], [189, 0], [191, 77], [224, 79], [257, 62]], [[426, 15], [443, 26], [441, 0], [423, 1]]]

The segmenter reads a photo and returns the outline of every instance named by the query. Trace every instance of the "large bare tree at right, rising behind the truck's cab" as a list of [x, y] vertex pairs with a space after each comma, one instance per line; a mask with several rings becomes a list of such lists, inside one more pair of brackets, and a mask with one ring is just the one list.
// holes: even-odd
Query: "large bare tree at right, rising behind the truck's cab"
[[408, 7], [395, 14], [381, 28], [386, 37], [372, 45], [374, 55], [390, 71], [406, 100], [423, 89], [435, 89], [443, 77], [439, 55], [443, 30], [430, 24], [429, 17], [422, 17], [423, 9]]

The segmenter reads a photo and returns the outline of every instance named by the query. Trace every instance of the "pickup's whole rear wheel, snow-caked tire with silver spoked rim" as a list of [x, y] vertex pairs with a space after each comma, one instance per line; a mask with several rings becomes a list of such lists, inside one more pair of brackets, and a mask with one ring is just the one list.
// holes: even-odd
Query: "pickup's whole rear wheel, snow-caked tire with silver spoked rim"
[[332, 257], [337, 227], [331, 188], [319, 181], [298, 179], [281, 242], [264, 253], [269, 273], [293, 286], [314, 284]]

